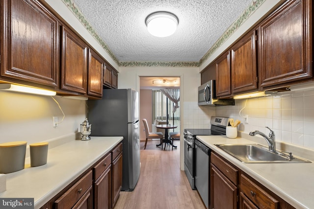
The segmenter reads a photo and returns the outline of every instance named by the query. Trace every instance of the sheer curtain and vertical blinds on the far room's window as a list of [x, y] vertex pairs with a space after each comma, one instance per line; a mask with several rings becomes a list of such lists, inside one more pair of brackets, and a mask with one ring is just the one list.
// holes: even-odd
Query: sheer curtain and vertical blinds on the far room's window
[[[168, 96], [167, 96], [168, 95]], [[168, 123], [178, 126], [175, 131], [180, 131], [180, 90], [166, 89], [153, 90], [153, 122], [155, 119], [166, 120], [168, 98]]]

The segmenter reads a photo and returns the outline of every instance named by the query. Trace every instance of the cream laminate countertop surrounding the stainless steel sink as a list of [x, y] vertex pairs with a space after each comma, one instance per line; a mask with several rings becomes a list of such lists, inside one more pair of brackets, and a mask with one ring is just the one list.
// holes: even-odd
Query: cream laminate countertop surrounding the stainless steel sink
[[214, 144], [253, 144], [256, 142], [239, 137], [228, 139], [226, 136], [197, 136], [196, 138], [273, 191], [291, 206], [296, 209], [314, 209], [314, 162], [241, 163]]

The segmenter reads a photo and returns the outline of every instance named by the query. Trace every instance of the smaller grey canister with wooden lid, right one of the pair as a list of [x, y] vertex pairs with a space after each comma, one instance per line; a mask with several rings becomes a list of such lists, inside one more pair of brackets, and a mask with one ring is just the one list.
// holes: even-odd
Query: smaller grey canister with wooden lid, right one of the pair
[[47, 163], [48, 142], [29, 144], [30, 166], [36, 167]]

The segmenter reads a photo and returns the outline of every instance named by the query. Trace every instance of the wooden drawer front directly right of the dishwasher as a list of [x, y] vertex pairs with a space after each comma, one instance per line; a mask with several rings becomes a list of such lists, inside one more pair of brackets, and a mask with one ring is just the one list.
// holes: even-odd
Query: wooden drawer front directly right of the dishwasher
[[235, 185], [237, 185], [238, 170], [214, 153], [211, 153], [210, 155], [210, 162], [213, 163]]

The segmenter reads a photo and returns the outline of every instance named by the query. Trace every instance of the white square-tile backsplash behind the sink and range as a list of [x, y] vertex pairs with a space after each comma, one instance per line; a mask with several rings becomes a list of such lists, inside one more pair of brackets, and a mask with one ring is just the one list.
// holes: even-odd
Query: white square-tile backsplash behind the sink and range
[[[249, 115], [249, 123], [244, 123], [240, 111], [241, 116]], [[209, 128], [210, 116], [232, 117], [241, 120], [238, 131], [259, 130], [268, 135], [268, 126], [275, 131], [276, 140], [314, 149], [314, 90], [235, 100], [235, 106], [184, 102], [183, 114], [184, 128]]]

